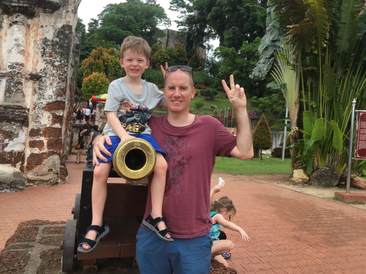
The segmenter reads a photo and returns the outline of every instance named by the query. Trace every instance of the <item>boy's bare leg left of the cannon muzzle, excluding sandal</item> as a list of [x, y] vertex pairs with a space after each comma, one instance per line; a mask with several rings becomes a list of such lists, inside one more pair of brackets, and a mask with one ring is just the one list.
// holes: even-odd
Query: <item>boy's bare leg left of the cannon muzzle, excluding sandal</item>
[[[94, 168], [93, 188], [91, 189], [91, 209], [93, 210], [92, 225], [102, 225], [105, 199], [107, 199], [107, 179], [111, 170], [112, 162], [96, 165]], [[89, 231], [85, 236], [87, 239], [95, 240], [97, 232]], [[89, 249], [83, 244], [85, 250]]]

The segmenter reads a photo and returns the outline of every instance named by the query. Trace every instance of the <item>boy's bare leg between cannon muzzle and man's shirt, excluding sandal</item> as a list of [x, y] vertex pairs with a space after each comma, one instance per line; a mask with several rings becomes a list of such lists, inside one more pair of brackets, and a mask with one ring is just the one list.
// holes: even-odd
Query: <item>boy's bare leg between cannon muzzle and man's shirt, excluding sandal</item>
[[[153, 218], [163, 216], [162, 210], [167, 168], [168, 164], [167, 161], [165, 161], [163, 154], [156, 152], [156, 164], [150, 186]], [[160, 222], [157, 227], [159, 231], [167, 228], [164, 222]], [[169, 239], [170, 235], [168, 234], [166, 237]]]

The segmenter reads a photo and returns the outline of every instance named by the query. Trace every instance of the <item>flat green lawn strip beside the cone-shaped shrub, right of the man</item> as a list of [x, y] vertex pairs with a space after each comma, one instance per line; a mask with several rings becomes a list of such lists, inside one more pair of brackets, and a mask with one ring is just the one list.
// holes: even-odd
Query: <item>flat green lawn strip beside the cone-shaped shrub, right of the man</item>
[[[267, 157], [269, 156], [269, 159]], [[291, 174], [291, 159], [272, 158], [270, 155], [264, 155], [263, 161], [260, 158], [253, 158], [242, 161], [234, 157], [224, 159], [216, 157], [215, 172], [225, 172], [239, 175], [255, 174]]]

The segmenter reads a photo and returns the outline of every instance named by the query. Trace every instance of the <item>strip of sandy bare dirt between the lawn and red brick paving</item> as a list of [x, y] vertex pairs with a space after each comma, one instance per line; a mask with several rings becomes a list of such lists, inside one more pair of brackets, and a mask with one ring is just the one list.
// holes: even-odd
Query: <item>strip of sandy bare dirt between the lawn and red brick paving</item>
[[[262, 183], [262, 184], [273, 184], [275, 186], [284, 187], [287, 189], [291, 189], [294, 191], [298, 191], [301, 193], [306, 193], [309, 195], [317, 196], [320, 198], [332, 200], [334, 198], [334, 193], [336, 191], [339, 192], [346, 192], [346, 186], [335, 186], [329, 189], [322, 188], [322, 187], [316, 187], [313, 185], [305, 184], [304, 186], [302, 184], [298, 185], [292, 185], [290, 183], [290, 176], [289, 175], [283, 175], [283, 174], [275, 174], [275, 175], [227, 175], [225, 174], [225, 180], [229, 181], [238, 181], [238, 180], [247, 180], [253, 183]], [[226, 187], [226, 186], [225, 186]], [[350, 188], [350, 193], [366, 193], [366, 190], [361, 189], [355, 189], [353, 187]], [[357, 208], [366, 209], [365, 205], [352, 205]]]

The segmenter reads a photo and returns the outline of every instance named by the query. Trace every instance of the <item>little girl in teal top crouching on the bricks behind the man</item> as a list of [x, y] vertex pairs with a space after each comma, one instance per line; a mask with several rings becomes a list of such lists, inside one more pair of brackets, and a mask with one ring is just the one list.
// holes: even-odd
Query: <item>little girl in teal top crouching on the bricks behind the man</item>
[[211, 203], [210, 217], [212, 218], [212, 227], [210, 233], [213, 240], [212, 257], [225, 266], [229, 265], [221, 254], [230, 252], [234, 248], [234, 244], [230, 240], [220, 240], [220, 228], [225, 227], [233, 231], [238, 231], [243, 240], [250, 240], [242, 228], [230, 221], [235, 213], [235, 206], [227, 196], [223, 196]]

